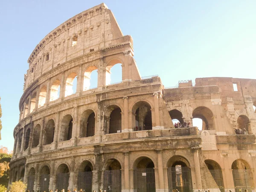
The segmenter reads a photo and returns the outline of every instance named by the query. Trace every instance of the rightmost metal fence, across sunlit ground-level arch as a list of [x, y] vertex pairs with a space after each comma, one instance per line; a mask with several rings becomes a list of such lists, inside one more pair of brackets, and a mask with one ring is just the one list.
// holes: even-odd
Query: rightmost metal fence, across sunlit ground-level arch
[[253, 176], [250, 169], [233, 169], [232, 173], [236, 192], [244, 189], [248, 192], [253, 190]]

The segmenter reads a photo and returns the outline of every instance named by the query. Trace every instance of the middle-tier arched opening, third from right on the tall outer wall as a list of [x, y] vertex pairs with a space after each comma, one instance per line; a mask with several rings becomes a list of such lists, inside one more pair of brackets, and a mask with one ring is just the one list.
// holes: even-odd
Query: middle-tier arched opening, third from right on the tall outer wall
[[92, 137], [95, 132], [95, 113], [93, 110], [86, 110], [81, 116], [80, 137]]

